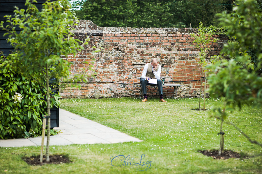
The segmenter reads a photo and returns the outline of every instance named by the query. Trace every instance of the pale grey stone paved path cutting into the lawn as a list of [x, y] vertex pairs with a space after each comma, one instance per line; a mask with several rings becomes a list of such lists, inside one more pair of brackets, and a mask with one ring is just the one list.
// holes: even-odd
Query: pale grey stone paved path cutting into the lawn
[[[141, 142], [142, 140], [121, 133], [92, 120], [80, 117], [59, 108], [59, 128], [58, 135], [50, 137], [49, 145], [70, 145], [70, 144], [111, 144], [123, 142]], [[44, 139], [46, 146], [47, 137]], [[28, 139], [1, 139], [1, 147], [24, 147], [41, 146], [42, 137]]]

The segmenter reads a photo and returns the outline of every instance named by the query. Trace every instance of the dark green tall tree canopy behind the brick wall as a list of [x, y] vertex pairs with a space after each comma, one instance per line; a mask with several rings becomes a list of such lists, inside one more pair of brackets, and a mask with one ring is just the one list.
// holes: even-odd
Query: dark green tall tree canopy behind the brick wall
[[204, 26], [217, 26], [215, 14], [232, 11], [232, 1], [226, 0], [91, 0], [72, 5], [79, 19], [103, 27], [197, 28], [200, 21]]

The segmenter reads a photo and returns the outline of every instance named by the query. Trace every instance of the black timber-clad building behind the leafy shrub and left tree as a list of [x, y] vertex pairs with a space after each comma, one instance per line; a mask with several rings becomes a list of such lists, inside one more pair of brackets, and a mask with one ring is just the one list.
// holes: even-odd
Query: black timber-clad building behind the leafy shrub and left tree
[[[0, 7], [1, 7], [1, 16], [0, 19], [1, 21], [4, 21], [4, 26], [6, 26], [8, 23], [6, 23], [6, 18], [4, 18], [5, 15], [13, 15], [15, 6], [17, 6], [19, 9], [26, 9], [25, 6], [25, 0], [0, 0]], [[41, 10], [42, 9], [42, 4], [45, 3], [46, 1], [43, 0], [38, 0], [38, 3], [34, 3], [36, 7]], [[19, 32], [21, 29], [16, 28], [17, 32]], [[15, 51], [14, 48], [10, 45], [10, 43], [7, 43], [6, 39], [8, 36], [3, 37], [3, 34], [6, 33], [5, 30], [2, 30], [1, 28], [1, 42], [0, 42], [0, 50], [3, 52], [4, 55], [9, 55], [10, 52]], [[52, 81], [55, 81], [52, 79]], [[51, 81], [51, 83], [52, 83]], [[55, 93], [58, 93], [57, 91], [54, 91]], [[59, 127], [59, 108], [56, 108], [55, 106], [51, 109], [51, 127]]]

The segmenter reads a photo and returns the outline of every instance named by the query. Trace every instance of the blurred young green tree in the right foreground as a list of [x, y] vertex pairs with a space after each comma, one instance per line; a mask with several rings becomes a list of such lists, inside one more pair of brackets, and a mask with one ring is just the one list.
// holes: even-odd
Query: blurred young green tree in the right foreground
[[[212, 115], [221, 119], [220, 154], [224, 150], [222, 124], [227, 112], [235, 110], [236, 106], [241, 109], [243, 104], [261, 107], [261, 1], [257, 2], [236, 1], [232, 14], [219, 14], [221, 25], [228, 28], [227, 35], [231, 38], [221, 51], [222, 57], [215, 57], [208, 66], [212, 71], [208, 78], [210, 95], [223, 96], [224, 100], [223, 108], [212, 109]], [[250, 49], [256, 50], [256, 68]]]

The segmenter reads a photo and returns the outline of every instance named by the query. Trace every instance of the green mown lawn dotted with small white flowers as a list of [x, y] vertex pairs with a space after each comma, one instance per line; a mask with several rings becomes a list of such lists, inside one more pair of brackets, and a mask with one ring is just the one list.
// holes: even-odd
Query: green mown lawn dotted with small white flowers
[[[44, 166], [29, 166], [22, 160], [39, 155], [40, 147], [1, 148], [1, 173], [261, 173], [261, 147], [251, 144], [231, 125], [224, 124], [223, 128], [225, 150], [247, 157], [214, 160], [199, 153], [219, 148], [220, 121], [210, 118], [208, 110], [194, 110], [199, 106], [196, 98], [166, 100], [163, 103], [156, 98], [142, 103], [134, 98], [62, 99], [61, 108], [143, 142], [51, 146], [52, 154], [68, 155], [71, 163]], [[213, 104], [222, 106], [222, 101], [206, 100], [207, 109]], [[261, 143], [261, 109], [244, 106], [230, 113], [227, 121]], [[110, 158], [118, 155], [126, 159], [122, 164], [149, 165], [111, 165]]]

